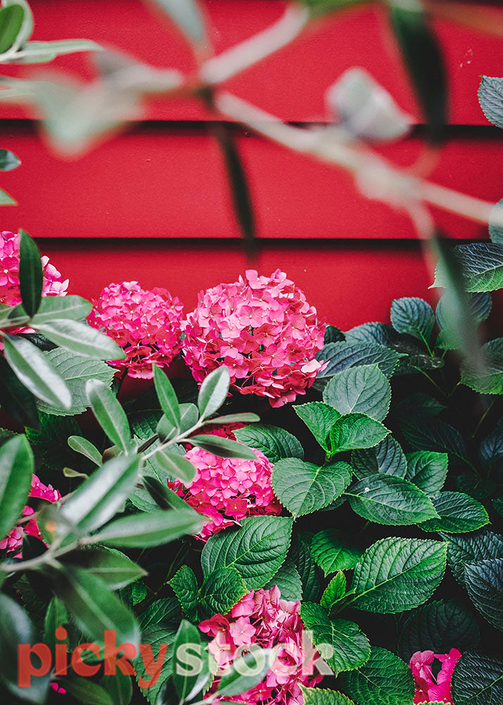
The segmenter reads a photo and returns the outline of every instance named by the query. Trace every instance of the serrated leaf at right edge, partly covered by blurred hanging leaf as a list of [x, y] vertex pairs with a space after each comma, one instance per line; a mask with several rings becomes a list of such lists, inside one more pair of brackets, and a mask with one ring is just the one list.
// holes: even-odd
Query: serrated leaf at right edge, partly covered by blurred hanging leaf
[[[503, 286], [503, 245], [470, 243], [454, 247], [454, 260], [464, 278], [466, 291], [494, 291]], [[449, 283], [445, 266], [437, 264], [433, 286]]]

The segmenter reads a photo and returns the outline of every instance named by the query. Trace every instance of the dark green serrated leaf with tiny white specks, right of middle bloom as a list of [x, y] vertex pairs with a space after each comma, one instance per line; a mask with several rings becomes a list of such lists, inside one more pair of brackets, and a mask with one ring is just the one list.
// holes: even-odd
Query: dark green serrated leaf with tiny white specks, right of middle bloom
[[369, 475], [345, 494], [356, 514], [377, 524], [403, 526], [438, 517], [430, 498], [402, 477]]

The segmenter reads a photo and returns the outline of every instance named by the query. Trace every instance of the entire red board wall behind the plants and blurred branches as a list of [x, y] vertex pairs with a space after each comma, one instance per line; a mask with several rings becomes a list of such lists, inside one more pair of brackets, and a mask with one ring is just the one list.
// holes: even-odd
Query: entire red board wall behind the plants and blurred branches
[[[221, 51], [278, 18], [279, 0], [205, 0]], [[32, 0], [35, 39], [89, 37], [155, 66], [189, 70], [190, 52], [168, 23], [139, 0]], [[497, 11], [497, 10], [496, 10]], [[500, 16], [503, 13], [500, 12]], [[447, 142], [431, 178], [496, 202], [503, 195], [503, 133], [478, 106], [479, 76], [501, 75], [503, 40], [439, 20], [451, 82]], [[326, 87], [349, 66], [364, 66], [419, 122], [419, 114], [379, 8], [346, 11], [326, 26], [230, 82], [240, 96], [300, 123], [324, 121]], [[54, 65], [85, 78], [89, 57]], [[33, 68], [5, 67], [20, 75]], [[38, 69], [39, 71], [39, 69]], [[208, 136], [211, 116], [189, 102], [146, 107], [147, 123], [63, 161], [39, 139], [30, 114], [0, 104], [1, 146], [22, 166], [1, 175], [18, 207], [2, 210], [1, 229], [25, 228], [70, 278], [93, 296], [110, 281], [166, 286], [187, 307], [197, 291], [234, 281], [248, 266], [278, 266], [302, 286], [321, 315], [343, 328], [387, 319], [392, 298], [421, 295], [431, 280], [403, 214], [361, 197], [346, 174], [285, 152], [236, 129], [261, 238], [259, 257], [242, 255], [221, 156]], [[32, 116], [31, 116], [32, 117]], [[3, 118], [3, 119], [1, 119]], [[381, 150], [407, 166], [420, 157], [421, 128]], [[483, 226], [445, 213], [435, 219], [453, 239], [485, 238]]]

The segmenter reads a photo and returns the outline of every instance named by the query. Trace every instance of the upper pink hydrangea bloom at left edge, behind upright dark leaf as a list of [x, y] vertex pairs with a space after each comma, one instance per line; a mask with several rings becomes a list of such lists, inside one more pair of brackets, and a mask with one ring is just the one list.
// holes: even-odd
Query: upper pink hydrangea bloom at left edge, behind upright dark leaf
[[[0, 233], [0, 303], [8, 306], [20, 304], [19, 293], [19, 235], [4, 231]], [[42, 257], [44, 279], [42, 295], [64, 296], [68, 289], [68, 279], [63, 281], [61, 273], [49, 257]]]

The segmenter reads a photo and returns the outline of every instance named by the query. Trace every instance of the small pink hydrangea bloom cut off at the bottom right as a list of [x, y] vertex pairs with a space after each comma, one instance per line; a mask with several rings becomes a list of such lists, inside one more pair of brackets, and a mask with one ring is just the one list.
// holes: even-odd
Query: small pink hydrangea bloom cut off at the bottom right
[[[414, 703], [442, 702], [452, 705], [451, 678], [452, 671], [461, 652], [451, 649], [449, 654], [434, 654], [433, 651], [416, 651], [412, 655], [409, 667], [414, 675], [416, 694]], [[435, 678], [432, 663], [438, 658], [442, 668]]]

